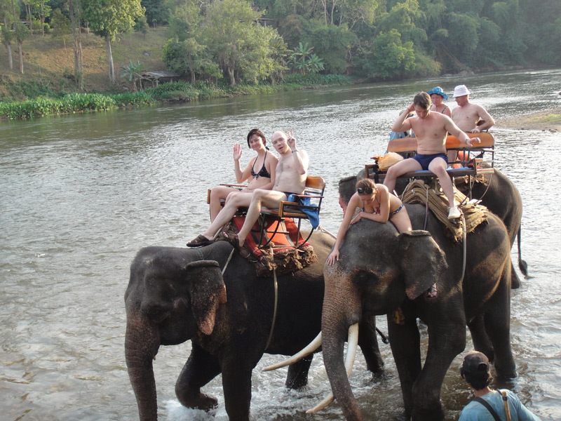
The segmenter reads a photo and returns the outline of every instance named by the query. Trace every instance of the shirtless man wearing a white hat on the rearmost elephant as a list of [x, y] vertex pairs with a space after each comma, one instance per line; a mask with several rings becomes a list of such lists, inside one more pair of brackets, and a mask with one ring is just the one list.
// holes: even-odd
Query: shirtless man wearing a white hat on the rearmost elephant
[[466, 133], [480, 133], [492, 128], [495, 125], [493, 117], [481, 105], [469, 102], [469, 94], [466, 85], [454, 88], [454, 100], [458, 107], [452, 109], [452, 120], [456, 126]]

